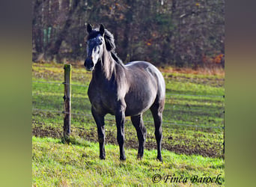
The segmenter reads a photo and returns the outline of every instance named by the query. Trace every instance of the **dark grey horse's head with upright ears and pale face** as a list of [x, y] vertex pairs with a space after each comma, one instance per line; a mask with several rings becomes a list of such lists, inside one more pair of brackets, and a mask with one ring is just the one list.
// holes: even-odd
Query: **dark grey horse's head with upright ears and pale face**
[[85, 69], [88, 71], [94, 70], [95, 65], [103, 56], [103, 44], [105, 28], [100, 25], [100, 29], [92, 29], [91, 25], [87, 25], [87, 58], [85, 59]]

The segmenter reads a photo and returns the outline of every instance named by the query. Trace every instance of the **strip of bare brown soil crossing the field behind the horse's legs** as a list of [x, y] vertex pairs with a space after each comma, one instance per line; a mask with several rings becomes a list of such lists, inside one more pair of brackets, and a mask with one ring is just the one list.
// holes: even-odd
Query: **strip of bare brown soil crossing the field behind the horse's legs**
[[[37, 137], [52, 137], [52, 138], [61, 138], [62, 131], [58, 128], [52, 127], [40, 127], [34, 126], [32, 129], [33, 135]], [[71, 135], [76, 134], [79, 137], [84, 138], [87, 141], [94, 141], [97, 142], [97, 130], [95, 129], [88, 129], [85, 130], [83, 128], [75, 128], [71, 130]], [[182, 144], [174, 144], [168, 142], [182, 142]], [[116, 135], [113, 132], [107, 132], [106, 135], [106, 144], [116, 144], [118, 145], [118, 141], [116, 140]], [[137, 138], [126, 139], [125, 140], [125, 147], [127, 148], [134, 148], [138, 149], [138, 140]], [[147, 141], [145, 144], [145, 149], [153, 150], [156, 149], [156, 141], [153, 137], [147, 137]], [[209, 156], [213, 158], [224, 158], [224, 154], [222, 152], [222, 144], [214, 144], [213, 142], [200, 142], [200, 141], [193, 141], [192, 139], [184, 139], [184, 138], [175, 138], [175, 141], [172, 138], [163, 138], [162, 140], [162, 149], [169, 150], [174, 153], [179, 154], [198, 154], [201, 156]]]

